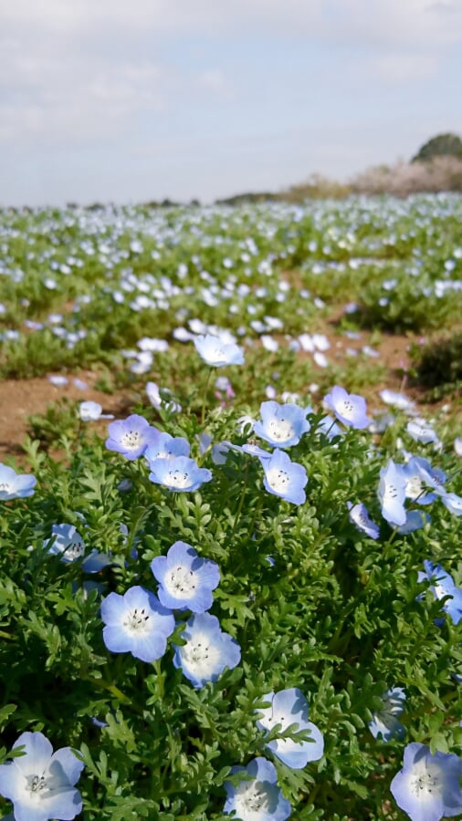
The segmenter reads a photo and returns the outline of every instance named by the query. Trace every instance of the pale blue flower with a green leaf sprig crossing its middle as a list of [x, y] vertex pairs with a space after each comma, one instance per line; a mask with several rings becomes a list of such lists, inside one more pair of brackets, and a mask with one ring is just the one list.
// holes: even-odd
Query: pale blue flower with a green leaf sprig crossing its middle
[[258, 709], [262, 713], [262, 717], [257, 720], [260, 730], [268, 730], [269, 733], [279, 724], [279, 732], [284, 733], [291, 724], [297, 724], [294, 728], [296, 732], [310, 732], [310, 741], [277, 738], [268, 742], [268, 750], [294, 770], [303, 769], [310, 761], [318, 761], [324, 752], [324, 740], [316, 724], [308, 721], [308, 701], [299, 688], [268, 692], [262, 696], [262, 701], [270, 701], [271, 706]]

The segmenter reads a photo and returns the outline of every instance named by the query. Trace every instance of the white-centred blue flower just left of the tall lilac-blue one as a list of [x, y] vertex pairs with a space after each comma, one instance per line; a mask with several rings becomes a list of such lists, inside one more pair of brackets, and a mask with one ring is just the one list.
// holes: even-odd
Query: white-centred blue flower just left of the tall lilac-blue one
[[279, 405], [273, 400], [262, 402], [260, 416], [261, 421], [256, 421], [254, 431], [273, 447], [289, 448], [300, 441], [303, 433], [310, 431], [307, 411], [299, 405]]

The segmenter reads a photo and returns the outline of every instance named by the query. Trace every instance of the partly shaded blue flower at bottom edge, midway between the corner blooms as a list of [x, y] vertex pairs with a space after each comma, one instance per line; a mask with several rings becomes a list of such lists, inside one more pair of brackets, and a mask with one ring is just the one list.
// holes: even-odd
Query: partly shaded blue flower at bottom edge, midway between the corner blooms
[[232, 767], [231, 773], [251, 775], [234, 786], [225, 782], [226, 802], [223, 812], [234, 813], [240, 821], [285, 821], [291, 806], [278, 787], [276, 767], [266, 758], [254, 758], [247, 767]]

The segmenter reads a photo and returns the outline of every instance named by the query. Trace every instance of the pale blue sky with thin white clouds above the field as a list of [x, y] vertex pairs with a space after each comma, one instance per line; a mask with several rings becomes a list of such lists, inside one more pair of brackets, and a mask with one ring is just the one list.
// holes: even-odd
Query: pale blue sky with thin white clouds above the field
[[0, 205], [203, 203], [462, 135], [462, 0], [10, 0]]

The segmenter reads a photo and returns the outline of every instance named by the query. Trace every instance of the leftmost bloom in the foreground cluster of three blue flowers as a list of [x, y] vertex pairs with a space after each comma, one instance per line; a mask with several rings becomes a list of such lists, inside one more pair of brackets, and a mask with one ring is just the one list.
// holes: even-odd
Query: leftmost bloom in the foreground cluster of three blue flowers
[[135, 659], [155, 661], [163, 656], [174, 630], [171, 610], [164, 608], [151, 590], [130, 587], [120, 596], [110, 593], [101, 602], [106, 625], [102, 637], [112, 653], [131, 653]]

